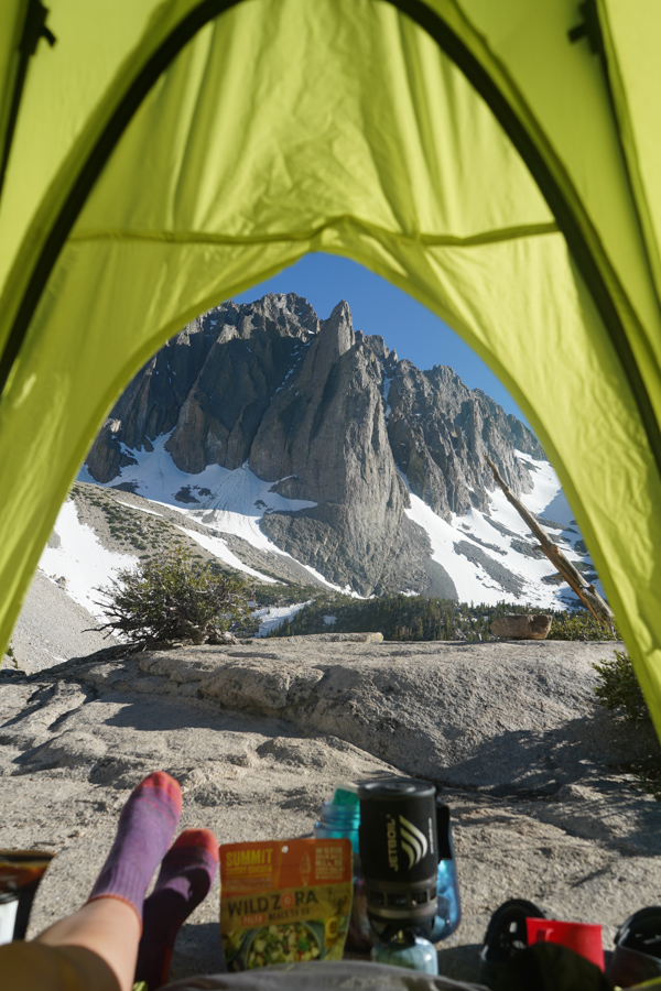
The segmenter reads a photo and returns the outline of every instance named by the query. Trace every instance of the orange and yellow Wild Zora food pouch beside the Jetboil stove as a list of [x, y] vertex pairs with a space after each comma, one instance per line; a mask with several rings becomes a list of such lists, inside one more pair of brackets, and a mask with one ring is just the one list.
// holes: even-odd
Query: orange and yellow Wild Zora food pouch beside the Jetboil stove
[[220, 880], [229, 969], [342, 959], [351, 913], [350, 840], [226, 843]]

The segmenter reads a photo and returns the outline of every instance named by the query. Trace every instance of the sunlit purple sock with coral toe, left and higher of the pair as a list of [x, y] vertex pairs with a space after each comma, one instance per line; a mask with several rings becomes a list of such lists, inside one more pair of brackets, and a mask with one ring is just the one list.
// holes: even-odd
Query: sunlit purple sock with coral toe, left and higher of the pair
[[142, 922], [147, 889], [181, 814], [182, 793], [174, 777], [164, 771], [145, 777], [121, 810], [115, 842], [87, 901], [119, 899]]

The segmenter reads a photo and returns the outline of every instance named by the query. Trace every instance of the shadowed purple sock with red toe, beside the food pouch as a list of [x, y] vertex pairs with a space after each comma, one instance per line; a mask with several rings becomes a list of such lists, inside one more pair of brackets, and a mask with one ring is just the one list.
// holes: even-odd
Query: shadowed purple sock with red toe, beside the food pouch
[[144, 926], [136, 980], [149, 991], [167, 980], [181, 926], [207, 896], [218, 868], [218, 841], [208, 829], [186, 829], [167, 851], [153, 892], [144, 902]]

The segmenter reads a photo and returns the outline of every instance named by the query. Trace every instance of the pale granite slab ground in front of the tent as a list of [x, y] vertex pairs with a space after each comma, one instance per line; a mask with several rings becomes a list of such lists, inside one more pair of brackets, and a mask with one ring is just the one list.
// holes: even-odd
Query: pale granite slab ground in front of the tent
[[[475, 979], [494, 910], [527, 897], [599, 922], [605, 946], [658, 902], [661, 805], [622, 773], [651, 745], [595, 701], [613, 644], [459, 645], [297, 638], [69, 661], [0, 675], [0, 847], [56, 851], [31, 933], [78, 905], [145, 773], [184, 791], [183, 826], [220, 842], [310, 836], [336, 783], [443, 787], [464, 921], [441, 972]], [[217, 970], [218, 885], [173, 976]]]

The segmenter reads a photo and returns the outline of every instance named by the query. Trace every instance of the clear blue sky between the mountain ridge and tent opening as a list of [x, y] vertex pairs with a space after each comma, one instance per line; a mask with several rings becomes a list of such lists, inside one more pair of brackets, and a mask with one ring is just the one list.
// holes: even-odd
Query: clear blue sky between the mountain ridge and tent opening
[[523, 414], [499, 379], [464, 341], [415, 300], [356, 262], [330, 254], [307, 254], [274, 279], [261, 282], [236, 296], [251, 303], [266, 293], [296, 293], [325, 319], [336, 303], [346, 300], [354, 328], [379, 334], [399, 358], [409, 358], [418, 368], [449, 364], [469, 389], [483, 389], [520, 420]]

